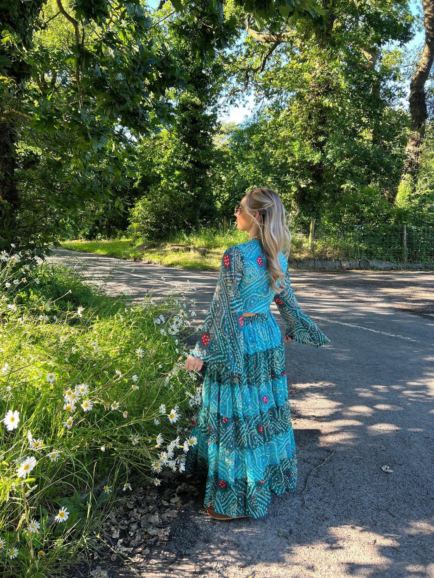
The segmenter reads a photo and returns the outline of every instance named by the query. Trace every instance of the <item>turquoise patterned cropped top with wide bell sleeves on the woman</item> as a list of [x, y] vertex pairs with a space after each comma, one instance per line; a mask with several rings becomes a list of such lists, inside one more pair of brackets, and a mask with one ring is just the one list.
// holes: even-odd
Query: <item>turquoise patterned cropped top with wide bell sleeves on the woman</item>
[[273, 299], [285, 320], [286, 336], [314, 347], [329, 343], [321, 329], [301, 311], [282, 252], [279, 262], [285, 281], [282, 291], [276, 295], [270, 286], [266, 257], [258, 239], [225, 251], [203, 331], [190, 355], [200, 357], [208, 365], [217, 365], [220, 371], [244, 373], [242, 313], [263, 313]]

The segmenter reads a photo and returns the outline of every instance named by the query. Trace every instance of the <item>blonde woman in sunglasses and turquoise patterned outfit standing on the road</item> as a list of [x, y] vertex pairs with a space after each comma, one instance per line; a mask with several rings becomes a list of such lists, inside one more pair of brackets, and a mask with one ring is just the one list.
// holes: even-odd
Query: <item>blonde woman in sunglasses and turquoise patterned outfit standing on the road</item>
[[[292, 293], [282, 253], [290, 232], [277, 193], [249, 191], [235, 214], [249, 240], [225, 251], [203, 331], [185, 364], [187, 370], [208, 364], [192, 431], [198, 443], [186, 470], [207, 476], [204, 506], [219, 520], [265, 516], [271, 492], [295, 489], [284, 342], [329, 342]], [[283, 340], [270, 311], [273, 298], [285, 320]]]

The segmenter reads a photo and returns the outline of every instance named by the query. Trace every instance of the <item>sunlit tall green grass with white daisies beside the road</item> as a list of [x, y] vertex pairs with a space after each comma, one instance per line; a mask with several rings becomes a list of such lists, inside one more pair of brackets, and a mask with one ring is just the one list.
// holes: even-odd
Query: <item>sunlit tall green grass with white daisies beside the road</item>
[[190, 295], [131, 304], [23, 257], [0, 257], [0, 571], [39, 578], [78, 560], [116, 497], [183, 470], [200, 392], [178, 340]]

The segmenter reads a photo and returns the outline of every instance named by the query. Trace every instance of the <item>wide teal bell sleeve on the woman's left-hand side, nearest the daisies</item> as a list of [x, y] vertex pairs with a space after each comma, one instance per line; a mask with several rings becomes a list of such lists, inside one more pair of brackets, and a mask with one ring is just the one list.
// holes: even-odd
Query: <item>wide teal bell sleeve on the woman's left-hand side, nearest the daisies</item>
[[244, 255], [237, 246], [225, 251], [217, 287], [203, 331], [190, 355], [231, 373], [244, 373], [242, 300], [239, 286], [245, 272]]

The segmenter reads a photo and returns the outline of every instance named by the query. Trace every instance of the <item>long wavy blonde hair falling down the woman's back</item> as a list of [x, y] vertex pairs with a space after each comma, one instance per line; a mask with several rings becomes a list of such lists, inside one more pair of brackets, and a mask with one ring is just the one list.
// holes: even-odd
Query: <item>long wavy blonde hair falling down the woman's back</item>
[[[270, 274], [270, 285], [275, 293], [282, 291], [285, 273], [279, 262], [282, 251], [288, 258], [291, 243], [289, 225], [291, 216], [286, 212], [277, 192], [271, 188], [253, 188], [246, 195], [245, 209], [252, 217], [253, 223], [259, 225], [259, 241], [267, 259], [267, 271]], [[253, 214], [258, 211], [262, 217], [256, 220]], [[278, 286], [277, 283], [280, 283]]]

